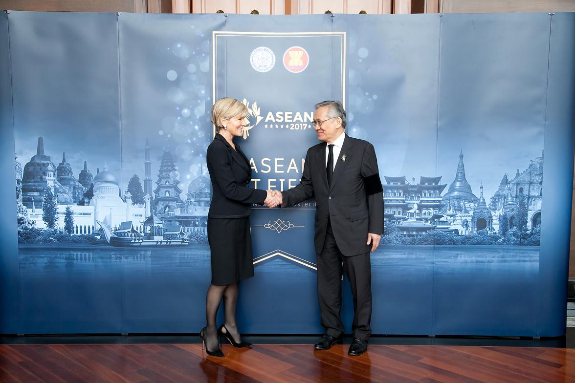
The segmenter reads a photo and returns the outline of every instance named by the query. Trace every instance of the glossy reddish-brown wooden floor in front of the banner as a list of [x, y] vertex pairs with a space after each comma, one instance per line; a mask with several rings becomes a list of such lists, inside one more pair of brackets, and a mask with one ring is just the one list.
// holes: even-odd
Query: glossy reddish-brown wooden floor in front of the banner
[[574, 382], [575, 350], [535, 347], [0, 345], [0, 382]]

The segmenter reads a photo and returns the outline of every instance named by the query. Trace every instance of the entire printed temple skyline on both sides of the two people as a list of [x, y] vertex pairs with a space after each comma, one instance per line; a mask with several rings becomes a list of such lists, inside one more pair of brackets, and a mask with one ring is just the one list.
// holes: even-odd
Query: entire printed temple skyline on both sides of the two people
[[[143, 152], [143, 187], [134, 175], [122, 192], [117, 177], [106, 164], [94, 175], [84, 161], [76, 178], [63, 153], [62, 162], [56, 167], [45, 153], [43, 137], [39, 137], [36, 154], [24, 168], [16, 158], [20, 229], [67, 230], [70, 235], [99, 237], [104, 234], [108, 242], [110, 237], [127, 239], [120, 246], [138, 241], [141, 244], [144, 238], [156, 245], [205, 243], [212, 198], [209, 177], [202, 172], [191, 181], [186, 198], [182, 199], [179, 173], [170, 151], [163, 152], [155, 188], [148, 140]], [[383, 177], [383, 243], [539, 245], [543, 152], [522, 172], [517, 169], [514, 177], [505, 173], [489, 203], [482, 184], [477, 196], [467, 182], [463, 158], [460, 152], [447, 192], [442, 176], [420, 176], [419, 182], [415, 178], [410, 182], [406, 176]], [[48, 189], [52, 191], [58, 217], [53, 227], [48, 227], [44, 218]], [[65, 219], [66, 214], [73, 219]]]

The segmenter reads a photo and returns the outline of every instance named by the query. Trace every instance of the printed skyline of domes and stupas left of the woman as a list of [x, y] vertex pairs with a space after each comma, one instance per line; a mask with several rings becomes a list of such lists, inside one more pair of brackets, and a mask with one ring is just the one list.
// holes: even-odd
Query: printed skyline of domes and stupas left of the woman
[[[182, 239], [189, 242], [186, 238], [200, 238], [201, 242], [206, 235], [212, 194], [209, 178], [201, 174], [191, 181], [187, 199], [182, 200], [177, 168], [170, 151], [165, 150], [153, 188], [148, 140], [143, 149], [143, 187], [135, 175], [127, 191], [122, 193], [116, 175], [105, 164], [94, 176], [84, 161], [84, 168], [76, 179], [71, 165], [66, 162], [66, 153], [63, 153], [62, 162], [56, 167], [51, 156], [44, 152], [43, 137], [39, 137], [36, 155], [23, 169], [16, 159], [18, 224], [48, 229], [43, 215], [45, 194], [50, 189], [57, 202], [56, 215], [59, 217], [55, 229], [66, 229], [64, 217], [69, 208], [74, 222], [71, 235], [94, 235], [106, 229], [116, 237], [150, 237], [156, 242], [166, 237], [172, 240], [170, 244], [174, 239], [182, 244]], [[168, 244], [167, 241], [162, 243]]]

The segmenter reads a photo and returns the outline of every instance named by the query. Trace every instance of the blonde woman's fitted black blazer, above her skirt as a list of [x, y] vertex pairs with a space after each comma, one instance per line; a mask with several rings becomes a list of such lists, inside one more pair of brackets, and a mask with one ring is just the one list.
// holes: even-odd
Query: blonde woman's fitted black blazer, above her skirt
[[221, 134], [216, 133], [208, 146], [206, 162], [212, 180], [212, 203], [210, 218], [241, 218], [250, 215], [251, 203], [263, 203], [265, 190], [249, 187], [251, 181], [250, 160], [240, 146], [236, 150]]

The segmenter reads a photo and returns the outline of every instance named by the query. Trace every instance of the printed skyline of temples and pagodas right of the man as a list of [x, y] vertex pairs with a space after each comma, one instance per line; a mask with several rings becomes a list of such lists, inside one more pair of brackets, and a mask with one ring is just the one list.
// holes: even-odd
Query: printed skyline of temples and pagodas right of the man
[[[514, 227], [539, 236], [543, 151], [523, 172], [517, 169], [512, 179], [505, 173], [489, 204], [483, 195], [483, 185], [480, 184], [477, 197], [467, 182], [463, 152], [459, 153], [455, 179], [443, 195], [447, 184], [441, 183], [442, 176], [421, 176], [419, 183], [415, 178], [409, 183], [405, 176], [384, 176], [384, 179], [385, 220], [404, 237], [420, 237], [434, 230], [455, 235], [482, 231], [485, 234], [501, 233], [504, 230], [505, 235]], [[532, 237], [530, 234], [527, 237]], [[533, 238], [531, 242], [529, 244], [539, 245], [539, 238], [536, 241]]]

